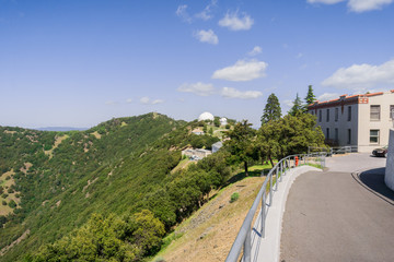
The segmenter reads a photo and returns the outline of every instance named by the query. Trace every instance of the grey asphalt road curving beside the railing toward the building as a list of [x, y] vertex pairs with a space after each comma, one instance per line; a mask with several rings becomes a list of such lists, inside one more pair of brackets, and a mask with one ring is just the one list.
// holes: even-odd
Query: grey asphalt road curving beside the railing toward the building
[[384, 184], [385, 158], [351, 154], [327, 159], [290, 189], [281, 262], [394, 261], [394, 192]]

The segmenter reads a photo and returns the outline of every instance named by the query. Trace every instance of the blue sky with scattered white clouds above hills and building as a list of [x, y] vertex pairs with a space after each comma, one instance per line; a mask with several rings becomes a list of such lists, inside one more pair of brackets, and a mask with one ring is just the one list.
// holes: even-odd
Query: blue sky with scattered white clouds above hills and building
[[202, 111], [256, 127], [308, 85], [394, 90], [393, 0], [0, 0], [0, 126]]

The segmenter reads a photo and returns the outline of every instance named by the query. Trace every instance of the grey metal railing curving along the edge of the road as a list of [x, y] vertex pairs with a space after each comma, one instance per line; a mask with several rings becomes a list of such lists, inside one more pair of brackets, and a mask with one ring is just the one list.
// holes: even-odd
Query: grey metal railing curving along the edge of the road
[[[326, 152], [314, 153], [314, 154], [300, 154], [291, 155], [279, 160], [273, 169], [268, 172], [258, 194], [253, 202], [251, 210], [247, 212], [247, 215], [241, 226], [241, 229], [234, 240], [234, 243], [231, 247], [231, 250], [225, 259], [225, 262], [236, 262], [242, 247], [243, 247], [243, 261], [250, 262], [252, 259], [252, 222], [255, 216], [256, 210], [262, 203], [260, 210], [260, 224], [262, 224], [262, 238], [265, 237], [265, 221], [267, 216], [267, 211], [269, 206], [273, 205], [274, 191], [278, 190], [278, 181], [281, 182], [282, 176], [286, 176], [286, 172], [291, 168], [300, 165], [315, 164], [321, 168], [325, 167], [325, 156]], [[275, 179], [275, 181], [274, 181]], [[269, 187], [268, 187], [269, 183]], [[267, 190], [269, 190], [267, 192]], [[268, 203], [267, 203], [268, 198]]]

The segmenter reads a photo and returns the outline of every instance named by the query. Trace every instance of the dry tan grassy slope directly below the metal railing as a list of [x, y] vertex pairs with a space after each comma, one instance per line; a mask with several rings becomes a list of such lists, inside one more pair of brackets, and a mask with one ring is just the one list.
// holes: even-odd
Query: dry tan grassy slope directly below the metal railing
[[[264, 179], [246, 178], [220, 191], [176, 228], [175, 233], [184, 235], [173, 240], [155, 259], [172, 262], [224, 261]], [[234, 192], [239, 192], [240, 199], [230, 203]]]

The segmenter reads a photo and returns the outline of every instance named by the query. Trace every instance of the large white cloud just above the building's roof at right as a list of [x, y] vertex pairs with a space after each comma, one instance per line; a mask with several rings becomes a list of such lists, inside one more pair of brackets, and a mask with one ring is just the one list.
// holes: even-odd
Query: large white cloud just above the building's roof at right
[[362, 63], [340, 68], [322, 82], [324, 86], [352, 90], [392, 84], [394, 84], [394, 59], [380, 66]]

